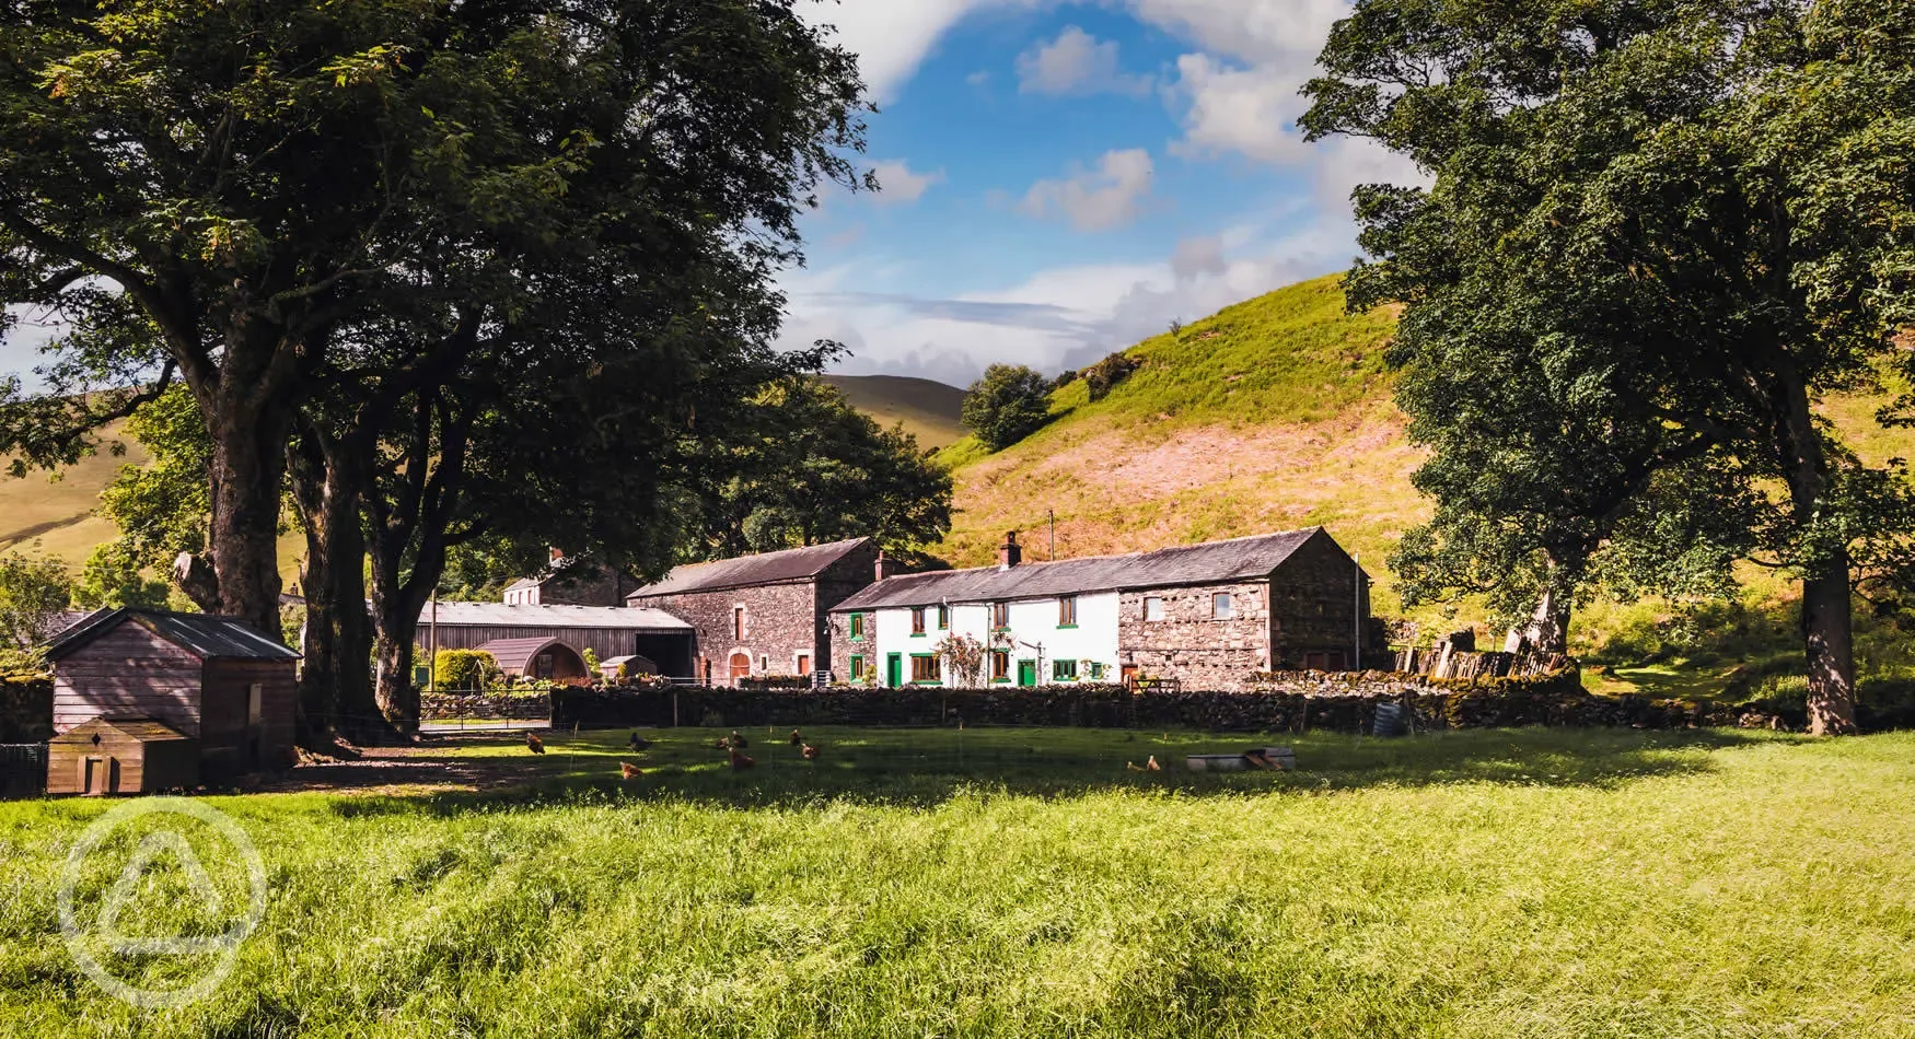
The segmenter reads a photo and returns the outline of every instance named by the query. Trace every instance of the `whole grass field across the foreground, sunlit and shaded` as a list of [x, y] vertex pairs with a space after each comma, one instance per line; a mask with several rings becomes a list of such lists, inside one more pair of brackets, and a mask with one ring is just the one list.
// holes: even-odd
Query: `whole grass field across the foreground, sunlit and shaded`
[[1285, 775], [1028, 729], [758, 731], [733, 773], [714, 735], [630, 785], [613, 733], [423, 752], [523, 788], [211, 798], [270, 907], [161, 1012], [57, 932], [107, 806], [0, 806], [0, 1035], [1915, 1035], [1911, 735], [1306, 735]]

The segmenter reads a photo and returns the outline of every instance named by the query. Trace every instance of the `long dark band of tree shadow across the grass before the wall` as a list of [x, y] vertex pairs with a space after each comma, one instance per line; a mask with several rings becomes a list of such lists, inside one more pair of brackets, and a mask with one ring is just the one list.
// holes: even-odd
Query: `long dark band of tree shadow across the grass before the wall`
[[[1109, 729], [816, 729], [823, 754], [806, 762], [785, 742], [753, 739], [751, 769], [732, 769], [712, 741], [722, 733], [651, 733], [645, 754], [622, 750], [624, 733], [557, 735], [523, 783], [350, 798], [341, 815], [458, 815], [534, 804], [693, 802], [726, 807], [797, 807], [827, 802], [931, 807], [959, 794], [1069, 798], [1107, 790], [1178, 796], [1318, 794], [1369, 786], [1499, 783], [1611, 788], [1649, 777], [1701, 773], [1710, 754], [1792, 737], [1722, 729], [1647, 733], [1632, 729], [1490, 729], [1392, 741], [1340, 735], [1254, 737]], [[1187, 754], [1231, 754], [1250, 746], [1296, 750], [1296, 771], [1195, 773]], [[1151, 756], [1162, 771], [1132, 771]], [[523, 762], [523, 746], [471, 741], [442, 758], [448, 775], [477, 762]], [[620, 762], [643, 769], [620, 779]], [[425, 765], [421, 762], [421, 765]], [[523, 767], [523, 765], [521, 765]]]

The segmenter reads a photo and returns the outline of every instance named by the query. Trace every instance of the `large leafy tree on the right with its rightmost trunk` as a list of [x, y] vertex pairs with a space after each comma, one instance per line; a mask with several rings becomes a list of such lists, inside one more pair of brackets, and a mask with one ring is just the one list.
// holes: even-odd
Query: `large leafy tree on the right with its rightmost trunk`
[[[1814, 174], [1748, 126], [1748, 98], [1802, 59], [1804, 15], [1754, 0], [1362, 0], [1331, 33], [1304, 124], [1434, 176], [1358, 193], [1377, 262], [1350, 298], [1406, 304], [1398, 360], [1425, 383], [1538, 371], [1578, 390], [1565, 406], [1589, 402], [1599, 455], [1620, 465], [1597, 478], [1624, 494], [1563, 494], [1561, 513], [1601, 528], [1697, 465], [1754, 501], [1758, 557], [1802, 580], [1812, 729], [1840, 733], [1850, 563], [1873, 534], [1858, 519], [1884, 515], [1873, 492], [1890, 484], [1814, 406], [1894, 352], [1879, 321], [1817, 302], [1802, 272], [1823, 249], [1800, 214]], [[1476, 335], [1469, 304], [1492, 297], [1521, 308], [1522, 335]], [[1469, 409], [1440, 392], [1406, 406], [1436, 427]], [[1511, 442], [1561, 417], [1524, 423]]]

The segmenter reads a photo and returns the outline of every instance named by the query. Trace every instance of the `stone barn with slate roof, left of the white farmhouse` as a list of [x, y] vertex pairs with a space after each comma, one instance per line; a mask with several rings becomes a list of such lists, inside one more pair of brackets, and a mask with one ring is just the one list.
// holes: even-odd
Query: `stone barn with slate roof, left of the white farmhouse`
[[833, 668], [831, 608], [881, 568], [877, 543], [852, 538], [678, 566], [626, 605], [686, 618], [697, 641], [693, 675], [705, 683], [808, 675]]

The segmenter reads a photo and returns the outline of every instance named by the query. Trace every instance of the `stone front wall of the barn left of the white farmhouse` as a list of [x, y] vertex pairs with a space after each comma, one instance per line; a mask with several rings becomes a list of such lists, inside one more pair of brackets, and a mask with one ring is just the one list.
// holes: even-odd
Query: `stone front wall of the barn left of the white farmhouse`
[[[789, 675], [797, 670], [799, 651], [812, 654], [812, 666], [823, 652], [818, 647], [820, 614], [812, 582], [768, 584], [758, 587], [728, 587], [716, 591], [687, 591], [684, 595], [645, 595], [632, 599], [634, 607], [655, 607], [691, 626], [697, 647], [695, 677], [732, 681], [732, 654], [751, 658], [753, 675]], [[745, 607], [745, 637], [732, 630], [732, 610]], [[829, 643], [827, 643], [829, 645]]]

